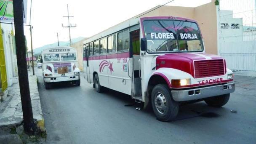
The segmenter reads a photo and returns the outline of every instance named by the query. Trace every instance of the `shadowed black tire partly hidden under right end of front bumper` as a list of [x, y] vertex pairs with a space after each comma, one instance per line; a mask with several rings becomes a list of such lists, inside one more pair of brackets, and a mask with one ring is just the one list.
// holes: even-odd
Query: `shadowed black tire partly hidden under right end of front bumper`
[[221, 96], [214, 96], [205, 99], [205, 103], [208, 104], [208, 106], [211, 107], [222, 107], [229, 101], [230, 93], [224, 94]]

